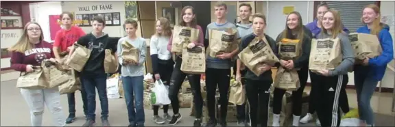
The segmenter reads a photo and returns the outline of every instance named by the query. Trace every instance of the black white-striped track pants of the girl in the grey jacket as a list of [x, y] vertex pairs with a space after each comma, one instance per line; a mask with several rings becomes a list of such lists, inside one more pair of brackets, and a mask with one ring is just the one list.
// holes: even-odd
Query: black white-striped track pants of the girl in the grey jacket
[[317, 76], [317, 97], [315, 100], [315, 111], [321, 126], [339, 126], [340, 110], [339, 96], [340, 91], [344, 89], [343, 75], [339, 76]]

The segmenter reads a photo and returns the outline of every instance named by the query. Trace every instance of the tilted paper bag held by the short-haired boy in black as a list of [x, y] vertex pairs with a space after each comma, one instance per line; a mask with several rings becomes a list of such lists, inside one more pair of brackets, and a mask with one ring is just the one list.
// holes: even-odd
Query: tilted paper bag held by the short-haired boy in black
[[267, 42], [266, 38], [255, 38], [248, 44], [246, 48], [239, 53], [239, 59], [249, 68], [256, 76], [261, 75], [263, 72], [259, 70], [265, 63], [274, 65], [279, 60], [274, 55], [272, 48]]

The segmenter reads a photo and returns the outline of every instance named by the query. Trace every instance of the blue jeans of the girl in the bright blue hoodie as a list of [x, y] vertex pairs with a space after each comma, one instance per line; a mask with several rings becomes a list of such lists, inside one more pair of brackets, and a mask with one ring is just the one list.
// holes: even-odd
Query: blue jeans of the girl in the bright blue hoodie
[[373, 76], [371, 76], [372, 73], [369, 72], [370, 68], [361, 66], [359, 68], [361, 69], [357, 70], [356, 67], [354, 72], [359, 119], [366, 121], [366, 124], [374, 125], [374, 113], [372, 107], [370, 107], [370, 99], [379, 81], [373, 79]]

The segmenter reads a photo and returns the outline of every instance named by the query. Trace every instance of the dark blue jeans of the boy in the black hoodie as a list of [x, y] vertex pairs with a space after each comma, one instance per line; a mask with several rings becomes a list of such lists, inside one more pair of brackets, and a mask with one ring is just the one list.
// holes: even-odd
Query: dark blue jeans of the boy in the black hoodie
[[96, 111], [96, 89], [99, 93], [100, 107], [101, 107], [101, 119], [108, 118], [108, 98], [106, 89], [106, 74], [82, 74], [80, 76], [82, 82], [82, 89], [86, 92], [86, 98], [88, 99], [88, 116], [87, 119], [95, 120]]

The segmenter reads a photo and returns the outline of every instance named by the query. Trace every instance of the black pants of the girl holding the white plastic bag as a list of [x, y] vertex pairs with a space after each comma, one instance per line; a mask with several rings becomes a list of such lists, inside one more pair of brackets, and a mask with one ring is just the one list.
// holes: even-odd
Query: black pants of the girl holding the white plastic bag
[[[169, 86], [171, 73], [173, 73], [173, 60], [169, 59], [168, 61], [158, 59], [158, 73], [160, 75], [160, 80], [162, 80], [164, 85]], [[155, 74], [152, 75], [153, 79], [155, 79]], [[154, 80], [156, 81], [156, 80]], [[158, 115], [159, 106], [154, 105], [154, 115]], [[163, 113], [167, 113], [169, 110], [169, 105], [163, 105]]]

